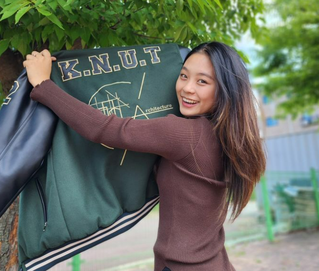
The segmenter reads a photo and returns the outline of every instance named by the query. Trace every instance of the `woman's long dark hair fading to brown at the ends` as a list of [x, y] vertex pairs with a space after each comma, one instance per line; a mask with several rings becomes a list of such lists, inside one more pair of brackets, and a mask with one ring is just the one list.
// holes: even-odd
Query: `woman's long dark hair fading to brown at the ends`
[[227, 210], [231, 205], [230, 220], [234, 221], [266, 169], [266, 155], [257, 126], [257, 101], [247, 68], [236, 51], [219, 42], [203, 43], [189, 52], [184, 63], [199, 52], [210, 57], [215, 71], [215, 102], [209, 118], [223, 149], [224, 181], [227, 182], [223, 207]]

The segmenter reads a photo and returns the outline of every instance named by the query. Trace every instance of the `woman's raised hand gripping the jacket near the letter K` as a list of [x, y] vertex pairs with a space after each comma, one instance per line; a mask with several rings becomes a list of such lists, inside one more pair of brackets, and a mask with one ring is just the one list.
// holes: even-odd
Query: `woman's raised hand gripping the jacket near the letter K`
[[26, 60], [23, 61], [23, 67], [26, 68], [28, 79], [31, 85], [35, 86], [44, 80], [50, 79], [52, 61], [56, 58], [51, 56], [48, 50], [41, 52], [33, 51], [32, 54], [27, 54]]

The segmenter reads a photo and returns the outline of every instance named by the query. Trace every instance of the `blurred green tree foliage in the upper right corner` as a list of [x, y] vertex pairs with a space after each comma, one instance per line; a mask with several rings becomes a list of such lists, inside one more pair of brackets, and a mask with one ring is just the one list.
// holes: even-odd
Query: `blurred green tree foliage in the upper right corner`
[[264, 76], [260, 85], [266, 96], [287, 99], [278, 116], [311, 113], [319, 104], [319, 1], [275, 0], [281, 21], [261, 39], [261, 63], [255, 68]]

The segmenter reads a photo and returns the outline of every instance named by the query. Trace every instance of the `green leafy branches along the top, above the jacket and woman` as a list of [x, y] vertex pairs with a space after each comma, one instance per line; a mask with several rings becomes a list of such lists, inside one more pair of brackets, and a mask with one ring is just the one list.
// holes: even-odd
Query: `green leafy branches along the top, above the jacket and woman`
[[[194, 47], [257, 35], [262, 0], [0, 0], [0, 54], [177, 42]], [[64, 48], [65, 47], [65, 48]]]

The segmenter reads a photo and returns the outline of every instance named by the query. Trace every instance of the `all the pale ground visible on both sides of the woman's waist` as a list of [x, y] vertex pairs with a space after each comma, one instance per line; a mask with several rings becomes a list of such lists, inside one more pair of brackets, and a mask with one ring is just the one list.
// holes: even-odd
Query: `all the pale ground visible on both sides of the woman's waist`
[[[257, 209], [250, 203], [234, 223], [224, 223], [225, 247], [236, 271], [319, 271], [319, 227], [279, 234], [274, 242], [234, 242], [245, 230], [254, 235], [263, 227], [266, 232], [266, 226], [256, 222]], [[153, 271], [158, 222], [158, 212], [151, 212], [128, 232], [82, 253], [80, 271]], [[50, 271], [72, 271], [70, 263], [71, 259]]]

